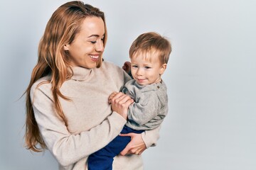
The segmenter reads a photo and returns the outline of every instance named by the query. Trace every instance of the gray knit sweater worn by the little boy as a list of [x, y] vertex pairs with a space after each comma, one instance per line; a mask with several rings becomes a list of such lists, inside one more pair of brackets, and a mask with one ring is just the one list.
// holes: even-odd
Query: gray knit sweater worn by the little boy
[[129, 128], [152, 130], [159, 127], [168, 113], [168, 96], [164, 81], [140, 86], [132, 79], [125, 84], [122, 92], [134, 99], [128, 111], [126, 125]]

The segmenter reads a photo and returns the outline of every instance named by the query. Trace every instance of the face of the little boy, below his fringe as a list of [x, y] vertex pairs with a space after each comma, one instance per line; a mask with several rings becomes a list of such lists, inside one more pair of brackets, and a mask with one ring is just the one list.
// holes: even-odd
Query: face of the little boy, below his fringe
[[[151, 61], [146, 60], [144, 55], [150, 55]], [[166, 64], [160, 63], [157, 52], [139, 52], [131, 58], [132, 77], [142, 86], [160, 82], [165, 69]]]

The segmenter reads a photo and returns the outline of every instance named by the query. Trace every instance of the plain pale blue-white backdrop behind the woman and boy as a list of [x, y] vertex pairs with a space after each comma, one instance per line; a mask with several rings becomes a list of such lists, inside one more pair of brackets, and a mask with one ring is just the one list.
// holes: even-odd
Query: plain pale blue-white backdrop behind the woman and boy
[[[25, 98], [38, 41], [66, 1], [1, 1], [0, 169], [54, 170], [55, 159], [23, 147]], [[105, 11], [105, 60], [119, 66], [138, 35], [156, 31], [173, 52], [164, 81], [169, 115], [146, 170], [256, 169], [256, 1], [95, 0]], [[85, 144], [86, 145], [86, 144]]]

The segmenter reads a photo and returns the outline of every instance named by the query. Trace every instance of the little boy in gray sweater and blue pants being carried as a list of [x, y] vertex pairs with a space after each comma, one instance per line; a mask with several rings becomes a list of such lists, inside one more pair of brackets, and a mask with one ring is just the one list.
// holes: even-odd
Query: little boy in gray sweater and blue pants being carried
[[[131, 96], [128, 120], [121, 134], [142, 133], [159, 127], [168, 113], [164, 74], [171, 44], [158, 33], [144, 33], [134, 40], [129, 49], [133, 79], [124, 85], [122, 92]], [[114, 94], [110, 95], [110, 99]], [[130, 137], [117, 136], [106, 147], [90, 155], [89, 170], [112, 169], [113, 158], [130, 142]]]

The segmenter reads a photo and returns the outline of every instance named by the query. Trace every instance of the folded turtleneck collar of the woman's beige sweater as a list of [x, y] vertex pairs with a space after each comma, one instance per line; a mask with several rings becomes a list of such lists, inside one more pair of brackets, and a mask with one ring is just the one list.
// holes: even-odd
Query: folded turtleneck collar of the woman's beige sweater
[[83, 67], [72, 67], [73, 77], [71, 79], [75, 81], [85, 81], [92, 76], [93, 69], [86, 69]]

